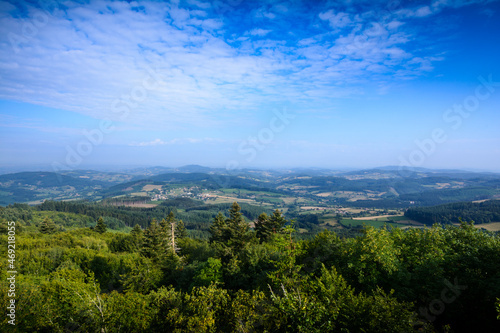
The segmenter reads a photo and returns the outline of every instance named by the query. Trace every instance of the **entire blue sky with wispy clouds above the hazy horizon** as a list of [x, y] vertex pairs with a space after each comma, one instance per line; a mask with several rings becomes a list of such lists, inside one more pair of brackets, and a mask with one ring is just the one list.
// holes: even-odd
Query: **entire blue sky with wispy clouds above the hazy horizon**
[[500, 171], [499, 1], [0, 2], [0, 166]]

